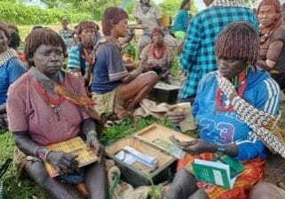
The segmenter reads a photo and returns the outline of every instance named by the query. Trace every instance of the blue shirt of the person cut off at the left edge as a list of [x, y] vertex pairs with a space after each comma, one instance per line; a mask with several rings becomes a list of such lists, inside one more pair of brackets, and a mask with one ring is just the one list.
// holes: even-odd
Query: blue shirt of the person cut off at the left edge
[[6, 103], [10, 85], [25, 72], [26, 68], [20, 62], [19, 57], [12, 57], [0, 65], [0, 105]]

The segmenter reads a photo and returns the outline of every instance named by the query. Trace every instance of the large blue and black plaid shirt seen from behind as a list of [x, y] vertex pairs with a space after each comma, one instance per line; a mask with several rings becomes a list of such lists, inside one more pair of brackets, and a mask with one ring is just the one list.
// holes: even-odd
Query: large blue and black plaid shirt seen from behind
[[191, 20], [180, 56], [180, 67], [187, 73], [186, 84], [178, 96], [180, 99], [195, 96], [199, 80], [217, 70], [216, 38], [226, 25], [234, 21], [247, 21], [258, 28], [253, 12], [241, 7], [210, 7]]

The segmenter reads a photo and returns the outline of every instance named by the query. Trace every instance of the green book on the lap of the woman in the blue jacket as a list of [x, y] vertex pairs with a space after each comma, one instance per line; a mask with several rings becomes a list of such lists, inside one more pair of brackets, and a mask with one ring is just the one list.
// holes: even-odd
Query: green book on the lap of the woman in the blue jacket
[[232, 177], [230, 165], [226, 165], [220, 161], [213, 162], [194, 159], [192, 166], [196, 180], [206, 181], [226, 189], [232, 189], [234, 187], [236, 177], [243, 170], [242, 167], [242, 170], [235, 172], [237, 175]]

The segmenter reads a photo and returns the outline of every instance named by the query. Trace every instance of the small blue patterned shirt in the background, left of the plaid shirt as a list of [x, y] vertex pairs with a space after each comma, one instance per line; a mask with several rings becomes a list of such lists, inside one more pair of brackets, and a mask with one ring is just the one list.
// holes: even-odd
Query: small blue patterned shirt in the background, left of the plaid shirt
[[191, 15], [185, 9], [178, 11], [176, 18], [171, 27], [171, 32], [175, 33], [177, 31], [186, 32], [189, 25]]

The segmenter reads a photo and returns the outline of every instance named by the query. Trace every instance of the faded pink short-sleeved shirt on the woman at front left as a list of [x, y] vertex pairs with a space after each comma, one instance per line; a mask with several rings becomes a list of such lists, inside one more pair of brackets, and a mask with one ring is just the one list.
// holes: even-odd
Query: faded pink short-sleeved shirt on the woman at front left
[[[79, 134], [83, 119], [90, 116], [65, 100], [60, 103], [58, 119], [56, 112], [34, 88], [34, 81], [26, 73], [9, 88], [7, 113], [10, 131], [28, 131], [33, 141], [44, 146], [69, 140]], [[69, 73], [65, 73], [64, 85], [78, 95], [86, 96], [82, 82]], [[52, 98], [59, 97], [54, 93], [50, 95]]]

